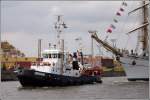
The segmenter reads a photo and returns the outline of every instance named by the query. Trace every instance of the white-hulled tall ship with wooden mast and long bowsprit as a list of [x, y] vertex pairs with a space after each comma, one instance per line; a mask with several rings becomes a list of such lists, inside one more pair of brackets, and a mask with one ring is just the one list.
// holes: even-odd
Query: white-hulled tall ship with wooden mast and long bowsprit
[[[143, 5], [135, 10], [129, 12], [132, 13], [136, 10], [143, 9], [143, 24], [136, 29], [131, 30], [128, 34], [142, 29], [142, 33], [138, 36], [138, 43], [142, 42], [142, 53], [138, 54], [138, 50], [131, 50], [131, 53], [128, 50], [119, 50], [112, 47], [108, 42], [101, 40], [96, 32], [91, 34], [91, 38], [94, 38], [99, 44], [101, 44], [106, 50], [112, 52], [116, 56], [116, 60], [119, 61], [126, 73], [127, 79], [129, 81], [135, 80], [149, 80], [149, 30], [148, 30], [148, 6], [149, 1], [142, 1]], [[139, 40], [140, 38], [141, 40]]]

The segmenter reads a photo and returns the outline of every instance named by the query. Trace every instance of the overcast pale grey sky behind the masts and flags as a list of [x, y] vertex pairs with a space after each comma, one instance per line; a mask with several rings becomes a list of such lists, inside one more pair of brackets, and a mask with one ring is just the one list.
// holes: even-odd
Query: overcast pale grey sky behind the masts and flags
[[[56, 15], [63, 15], [68, 28], [63, 31], [65, 48], [70, 52], [76, 51], [79, 43], [75, 38], [82, 38], [83, 52], [90, 53], [90, 34], [88, 30], [97, 30], [98, 36], [105, 38], [107, 28], [114, 24], [113, 18], [118, 19], [116, 29], [109, 39], [118, 39], [120, 48], [135, 48], [136, 33], [127, 36], [125, 33], [140, 23], [139, 16], [127, 13], [138, 7], [140, 1], [127, 1], [128, 6], [121, 17], [116, 12], [122, 1], [2, 1], [1, 2], [1, 36], [26, 56], [37, 56], [37, 41], [42, 39], [42, 50], [48, 48], [48, 43], [56, 43], [54, 23]], [[130, 43], [126, 45], [126, 41]], [[109, 41], [110, 42], [110, 41]], [[96, 42], [95, 42], [96, 44]], [[133, 46], [134, 45], [134, 46]], [[95, 45], [95, 52], [98, 48]]]

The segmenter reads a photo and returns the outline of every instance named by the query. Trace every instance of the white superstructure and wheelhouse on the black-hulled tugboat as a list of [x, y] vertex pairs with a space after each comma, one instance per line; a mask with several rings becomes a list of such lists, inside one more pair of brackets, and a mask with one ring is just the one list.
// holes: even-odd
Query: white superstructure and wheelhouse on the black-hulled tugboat
[[62, 71], [62, 63], [61, 59], [64, 57], [63, 60], [63, 74], [65, 76], [75, 76], [79, 77], [81, 75], [81, 70], [83, 66], [80, 62], [77, 62], [79, 65], [79, 70], [73, 69], [73, 60], [69, 63], [69, 54], [62, 53], [58, 49], [49, 49], [44, 50], [42, 52], [43, 59], [38, 64], [33, 64], [31, 69], [51, 73], [51, 74], [61, 74]]

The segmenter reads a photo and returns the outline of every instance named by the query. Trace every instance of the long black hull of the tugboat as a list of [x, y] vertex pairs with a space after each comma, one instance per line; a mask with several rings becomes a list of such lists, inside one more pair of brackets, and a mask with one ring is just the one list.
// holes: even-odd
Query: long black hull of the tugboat
[[23, 87], [69, 86], [102, 82], [100, 75], [71, 77], [30, 69], [22, 70], [17, 77]]

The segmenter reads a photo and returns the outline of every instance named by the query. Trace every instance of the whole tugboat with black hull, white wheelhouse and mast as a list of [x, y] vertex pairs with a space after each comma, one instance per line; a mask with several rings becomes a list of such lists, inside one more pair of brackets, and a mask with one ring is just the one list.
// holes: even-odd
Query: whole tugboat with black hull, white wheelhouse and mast
[[[60, 24], [58, 16], [58, 26]], [[60, 35], [60, 26], [55, 28]], [[60, 37], [60, 36], [58, 36]], [[54, 45], [42, 52], [42, 57], [37, 63], [33, 63], [30, 69], [21, 69], [17, 73], [19, 82], [23, 87], [43, 86], [69, 86], [90, 83], [102, 83], [99, 67], [88, 68], [77, 59], [77, 53], [73, 56], [64, 51], [64, 40], [59, 40], [59, 48]], [[81, 53], [80, 53], [81, 54]], [[83, 55], [81, 55], [83, 56]]]

